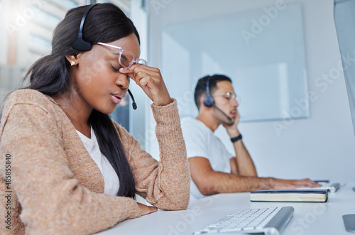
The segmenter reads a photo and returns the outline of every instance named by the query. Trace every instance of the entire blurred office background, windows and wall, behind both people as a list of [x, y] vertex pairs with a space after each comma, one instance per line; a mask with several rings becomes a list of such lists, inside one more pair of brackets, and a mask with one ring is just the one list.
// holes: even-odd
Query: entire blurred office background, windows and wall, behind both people
[[[180, 116], [197, 114], [198, 78], [224, 73], [241, 97], [239, 129], [259, 175], [349, 181], [355, 178], [354, 76], [344, 77], [342, 57], [347, 73], [355, 55], [349, 42], [339, 50], [345, 39], [338, 36], [355, 28], [354, 18], [345, 17], [354, 1], [336, 1], [337, 27], [334, 0], [111, 2], [135, 23], [141, 58], [160, 68]], [[1, 100], [50, 53], [53, 29], [67, 9], [96, 2], [103, 1], [0, 0]], [[111, 116], [158, 159], [151, 101], [136, 84], [130, 89], [138, 109], [126, 100]], [[216, 134], [233, 152], [224, 129]]]

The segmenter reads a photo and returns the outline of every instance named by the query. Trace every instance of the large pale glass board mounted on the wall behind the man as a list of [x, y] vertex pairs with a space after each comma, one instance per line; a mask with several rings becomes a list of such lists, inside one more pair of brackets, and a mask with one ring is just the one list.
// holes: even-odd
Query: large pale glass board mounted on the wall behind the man
[[165, 26], [161, 40], [163, 75], [181, 116], [197, 114], [195, 84], [216, 73], [233, 80], [241, 121], [310, 116], [300, 4], [197, 14]]

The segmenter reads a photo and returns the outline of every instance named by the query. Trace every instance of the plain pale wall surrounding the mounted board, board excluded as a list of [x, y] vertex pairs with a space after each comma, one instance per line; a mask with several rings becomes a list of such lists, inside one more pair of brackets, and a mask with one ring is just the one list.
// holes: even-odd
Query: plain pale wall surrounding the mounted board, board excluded
[[[244, 11], [273, 6], [280, 1], [204, 0], [203, 5], [191, 0], [152, 1], [155, 5], [149, 6], [148, 21], [150, 63], [157, 67], [162, 64], [160, 32], [169, 23], [187, 21], [203, 15], [235, 12], [236, 9]], [[160, 4], [156, 4], [157, 2]], [[310, 118], [241, 123], [239, 129], [243, 133], [244, 143], [261, 176], [354, 180], [355, 136], [344, 75], [339, 69], [342, 64], [334, 28], [333, 1], [284, 2], [302, 4], [308, 89], [312, 94]], [[181, 70], [182, 73], [185, 72], [183, 67]], [[168, 79], [165, 77], [165, 80]], [[158, 143], [153, 138], [154, 121], [151, 113], [147, 114], [147, 118], [150, 126], [146, 129], [149, 133], [146, 149], [157, 157]], [[224, 129], [217, 129], [216, 134], [226, 143], [229, 151], [233, 151]]]

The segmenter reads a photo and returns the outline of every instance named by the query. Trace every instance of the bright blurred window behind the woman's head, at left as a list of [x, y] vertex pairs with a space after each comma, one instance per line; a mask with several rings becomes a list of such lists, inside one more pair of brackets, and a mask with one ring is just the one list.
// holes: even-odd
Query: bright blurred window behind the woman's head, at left
[[[23, 87], [26, 70], [35, 60], [51, 51], [52, 33], [68, 9], [104, 1], [85, 0], [0, 0], [0, 100]], [[110, 1], [126, 15], [130, 0]], [[111, 117], [129, 130], [129, 97]]]

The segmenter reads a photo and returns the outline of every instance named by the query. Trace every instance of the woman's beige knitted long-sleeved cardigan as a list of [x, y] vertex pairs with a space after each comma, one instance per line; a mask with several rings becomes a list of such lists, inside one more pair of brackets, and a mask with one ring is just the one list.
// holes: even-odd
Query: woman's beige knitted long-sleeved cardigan
[[[186, 209], [190, 173], [176, 101], [151, 108], [159, 162], [114, 123], [136, 193], [159, 209]], [[35, 90], [18, 90], [6, 101], [0, 173], [0, 234], [93, 234], [141, 213], [135, 200], [103, 194], [104, 177], [70, 119], [54, 99]]]

